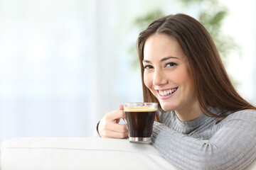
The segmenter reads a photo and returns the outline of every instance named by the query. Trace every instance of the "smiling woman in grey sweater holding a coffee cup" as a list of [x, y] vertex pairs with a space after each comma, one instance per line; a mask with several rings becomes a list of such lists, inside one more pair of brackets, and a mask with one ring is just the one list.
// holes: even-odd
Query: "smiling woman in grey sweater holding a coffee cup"
[[[152, 145], [178, 169], [244, 169], [256, 157], [256, 108], [238, 93], [206, 28], [190, 16], [159, 18], [137, 47], [144, 102], [158, 102]], [[127, 137], [123, 106], [98, 124]], [[208, 143], [203, 142], [208, 140]]]

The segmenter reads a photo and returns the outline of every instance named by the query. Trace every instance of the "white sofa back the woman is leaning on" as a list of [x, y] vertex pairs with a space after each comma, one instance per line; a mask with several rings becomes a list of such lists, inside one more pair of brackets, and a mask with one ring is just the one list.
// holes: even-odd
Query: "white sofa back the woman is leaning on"
[[[0, 164], [1, 170], [175, 169], [151, 145], [102, 138], [6, 140]], [[256, 162], [249, 169], [256, 169]]]

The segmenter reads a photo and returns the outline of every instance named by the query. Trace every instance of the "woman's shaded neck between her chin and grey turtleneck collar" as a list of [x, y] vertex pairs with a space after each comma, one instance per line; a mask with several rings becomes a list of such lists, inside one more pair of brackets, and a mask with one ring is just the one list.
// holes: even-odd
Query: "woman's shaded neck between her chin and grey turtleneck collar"
[[193, 103], [189, 107], [182, 107], [182, 108], [176, 109], [175, 113], [178, 119], [183, 122], [194, 120], [199, 116], [203, 115], [203, 111], [201, 110], [201, 107], [198, 101], [196, 101], [196, 103]]

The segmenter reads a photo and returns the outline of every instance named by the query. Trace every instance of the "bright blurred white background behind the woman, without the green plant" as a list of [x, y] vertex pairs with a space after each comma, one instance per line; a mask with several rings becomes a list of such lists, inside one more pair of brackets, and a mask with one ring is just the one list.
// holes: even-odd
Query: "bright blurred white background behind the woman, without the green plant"
[[[134, 21], [156, 9], [199, 20], [207, 1], [183, 1], [0, 0], [0, 142], [90, 137], [105, 113], [142, 101]], [[256, 105], [256, 3], [220, 5], [228, 11], [220, 31], [239, 48], [225, 66]]]

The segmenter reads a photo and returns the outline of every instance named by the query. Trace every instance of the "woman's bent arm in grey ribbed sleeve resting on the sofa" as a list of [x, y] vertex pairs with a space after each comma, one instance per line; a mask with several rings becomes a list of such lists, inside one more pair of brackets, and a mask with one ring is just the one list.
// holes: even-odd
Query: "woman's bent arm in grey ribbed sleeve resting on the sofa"
[[208, 143], [154, 123], [153, 145], [179, 169], [244, 169], [256, 157], [256, 112], [225, 118]]

